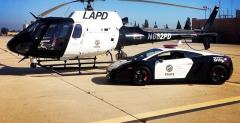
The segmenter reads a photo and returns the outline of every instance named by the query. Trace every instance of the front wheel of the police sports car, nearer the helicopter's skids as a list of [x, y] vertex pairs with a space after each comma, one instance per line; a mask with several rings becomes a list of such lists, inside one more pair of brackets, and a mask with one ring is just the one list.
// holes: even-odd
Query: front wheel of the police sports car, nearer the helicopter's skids
[[148, 67], [137, 67], [133, 70], [132, 81], [134, 85], [144, 86], [152, 81], [152, 73]]

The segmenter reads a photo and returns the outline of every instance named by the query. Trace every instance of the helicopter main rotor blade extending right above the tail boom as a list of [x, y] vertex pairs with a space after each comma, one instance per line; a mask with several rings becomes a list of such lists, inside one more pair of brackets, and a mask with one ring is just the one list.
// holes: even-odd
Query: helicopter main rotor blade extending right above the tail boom
[[165, 3], [165, 2], [160, 2], [160, 1], [151, 1], [151, 0], [120, 0], [120, 1], [153, 3], [153, 4], [161, 4], [161, 5], [175, 6], [175, 7], [181, 7], [181, 8], [196, 9], [196, 10], [206, 10], [204, 8], [192, 7], [192, 6], [186, 6], [186, 5], [179, 5], [179, 4], [173, 4], [173, 3]]

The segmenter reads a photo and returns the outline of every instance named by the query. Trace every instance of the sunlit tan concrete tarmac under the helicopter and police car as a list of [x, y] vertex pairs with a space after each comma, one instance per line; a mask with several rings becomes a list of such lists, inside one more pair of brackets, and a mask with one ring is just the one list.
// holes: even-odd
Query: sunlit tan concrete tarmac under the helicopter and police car
[[[234, 73], [223, 85], [156, 82], [138, 87], [109, 82], [102, 67], [84, 70], [84, 75], [66, 71], [71, 73], [67, 76], [31, 69], [29, 60], [18, 63], [22, 56], [6, 49], [9, 39], [0, 38], [0, 123], [240, 121], [240, 45], [213, 44], [207, 51], [227, 54], [233, 60]], [[124, 51], [134, 55], [163, 44], [169, 42], [130, 46]], [[201, 44], [190, 45], [202, 49]], [[184, 43], [180, 47], [189, 49]], [[99, 61], [109, 59], [98, 56]]]

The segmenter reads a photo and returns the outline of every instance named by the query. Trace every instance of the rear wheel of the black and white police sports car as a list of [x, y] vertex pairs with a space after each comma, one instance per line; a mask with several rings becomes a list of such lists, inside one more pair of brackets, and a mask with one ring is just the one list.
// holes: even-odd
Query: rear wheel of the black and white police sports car
[[227, 80], [227, 77], [227, 69], [222, 65], [216, 65], [210, 71], [210, 81], [213, 84], [223, 84]]

